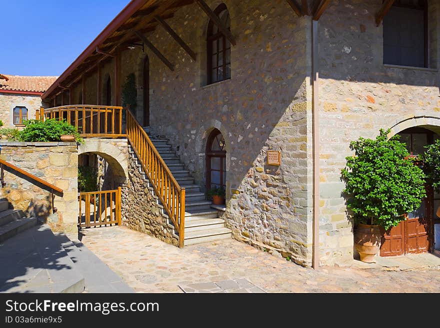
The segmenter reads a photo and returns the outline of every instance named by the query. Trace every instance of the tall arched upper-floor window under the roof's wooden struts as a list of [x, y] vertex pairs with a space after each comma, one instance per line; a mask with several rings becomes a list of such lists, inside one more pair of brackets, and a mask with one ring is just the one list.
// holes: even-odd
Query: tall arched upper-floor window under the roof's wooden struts
[[[230, 18], [226, 5], [221, 3], [214, 10], [226, 28], [230, 30]], [[207, 84], [230, 78], [230, 42], [217, 25], [209, 20], [207, 33]]]

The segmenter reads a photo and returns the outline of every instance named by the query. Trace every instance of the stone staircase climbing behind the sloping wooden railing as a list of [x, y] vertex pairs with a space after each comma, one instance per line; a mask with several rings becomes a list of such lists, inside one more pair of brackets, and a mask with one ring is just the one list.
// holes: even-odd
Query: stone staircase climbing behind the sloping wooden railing
[[[147, 128], [145, 132], [149, 135]], [[151, 138], [151, 142], [156, 147], [163, 161], [168, 166], [180, 187], [185, 188], [185, 245], [192, 245], [204, 242], [211, 242], [220, 239], [231, 238], [232, 231], [224, 226], [224, 220], [220, 218], [221, 210], [213, 208], [210, 201], [206, 200], [204, 193], [200, 191], [200, 187], [194, 183], [194, 178], [185, 169], [180, 158], [172, 151], [168, 139]], [[139, 172], [143, 174], [143, 179], [148, 183], [148, 178], [144, 174], [139, 159], [132, 151], [129, 145], [129, 153], [137, 161]], [[150, 187], [153, 193], [152, 187]], [[153, 196], [154, 193], [153, 193]], [[157, 198], [157, 197], [156, 197]], [[160, 200], [157, 199], [160, 205]], [[167, 217], [166, 211], [163, 215]], [[168, 219], [170, 228], [174, 229], [172, 221]], [[178, 232], [173, 230], [174, 234]]]

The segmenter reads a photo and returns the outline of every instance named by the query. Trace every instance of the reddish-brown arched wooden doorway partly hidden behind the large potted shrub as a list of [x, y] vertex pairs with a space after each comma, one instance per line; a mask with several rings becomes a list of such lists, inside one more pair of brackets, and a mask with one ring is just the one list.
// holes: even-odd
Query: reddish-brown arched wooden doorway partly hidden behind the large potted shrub
[[[424, 146], [432, 144], [440, 136], [435, 132], [412, 127], [397, 133], [400, 141], [406, 144], [410, 155], [418, 156], [424, 152]], [[431, 186], [426, 185], [427, 197], [407, 219], [388, 231], [382, 231], [380, 256], [398, 256], [414, 253], [430, 252], [440, 246], [440, 239], [435, 240], [434, 228], [440, 227], [440, 217], [435, 211], [440, 206], [440, 194], [434, 193]], [[438, 237], [437, 237], [438, 238]]]

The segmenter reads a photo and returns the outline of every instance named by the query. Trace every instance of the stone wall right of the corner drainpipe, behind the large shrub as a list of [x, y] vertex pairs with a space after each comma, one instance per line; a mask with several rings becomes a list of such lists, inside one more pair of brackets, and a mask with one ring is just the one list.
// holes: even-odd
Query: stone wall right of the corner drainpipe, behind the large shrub
[[[319, 19], [319, 238], [321, 261], [327, 264], [353, 258], [352, 225], [340, 180], [345, 157], [353, 154], [349, 142], [374, 138], [380, 128], [393, 128], [395, 134], [427, 125], [428, 117], [440, 118], [436, 69], [383, 65], [382, 25], [374, 24], [381, 3], [331, 1]], [[439, 13], [437, 1], [429, 1], [431, 67], [438, 67], [432, 60], [433, 55], [437, 60]]]

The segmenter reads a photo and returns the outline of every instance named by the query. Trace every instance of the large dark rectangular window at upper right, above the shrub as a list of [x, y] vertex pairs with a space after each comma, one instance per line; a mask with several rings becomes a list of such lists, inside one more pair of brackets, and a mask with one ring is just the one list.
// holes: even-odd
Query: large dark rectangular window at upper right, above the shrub
[[427, 67], [427, 1], [395, 0], [383, 18], [383, 63]]

